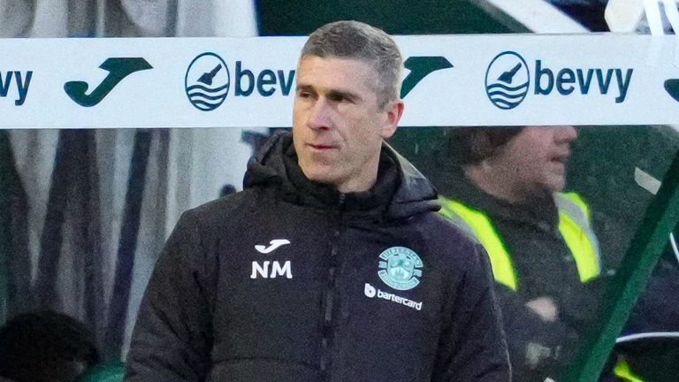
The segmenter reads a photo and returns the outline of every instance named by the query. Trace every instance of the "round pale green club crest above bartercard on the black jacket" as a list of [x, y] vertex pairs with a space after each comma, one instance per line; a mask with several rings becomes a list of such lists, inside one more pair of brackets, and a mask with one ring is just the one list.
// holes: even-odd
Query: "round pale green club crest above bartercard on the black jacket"
[[392, 247], [379, 255], [378, 276], [389, 287], [408, 290], [417, 287], [422, 277], [422, 259], [405, 247]]

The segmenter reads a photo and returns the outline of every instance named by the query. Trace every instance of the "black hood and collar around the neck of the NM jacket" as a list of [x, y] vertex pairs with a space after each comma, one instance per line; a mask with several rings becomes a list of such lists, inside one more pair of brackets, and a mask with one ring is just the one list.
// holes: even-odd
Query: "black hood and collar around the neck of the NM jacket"
[[[248, 161], [243, 188], [256, 186], [278, 187], [287, 200], [318, 208], [340, 202], [336, 187], [311, 181], [301, 172], [288, 132], [272, 135]], [[370, 212], [380, 219], [409, 218], [439, 210], [437, 198], [430, 181], [383, 142], [377, 183], [368, 191], [345, 194], [344, 210]]]

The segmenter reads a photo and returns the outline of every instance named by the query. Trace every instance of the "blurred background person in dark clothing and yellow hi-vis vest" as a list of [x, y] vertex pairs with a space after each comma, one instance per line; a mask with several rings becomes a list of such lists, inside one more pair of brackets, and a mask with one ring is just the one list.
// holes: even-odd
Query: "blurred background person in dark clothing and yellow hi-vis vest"
[[590, 210], [562, 192], [576, 138], [573, 126], [450, 134], [441, 213], [490, 256], [516, 381], [558, 381], [596, 318], [601, 264]]

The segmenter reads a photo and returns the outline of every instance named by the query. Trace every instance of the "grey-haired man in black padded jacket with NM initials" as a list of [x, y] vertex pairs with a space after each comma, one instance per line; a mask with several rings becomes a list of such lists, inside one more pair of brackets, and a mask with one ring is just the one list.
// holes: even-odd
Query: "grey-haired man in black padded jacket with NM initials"
[[509, 380], [483, 250], [383, 141], [403, 112], [401, 61], [362, 23], [309, 36], [293, 136], [250, 160], [243, 192], [180, 218], [127, 381]]

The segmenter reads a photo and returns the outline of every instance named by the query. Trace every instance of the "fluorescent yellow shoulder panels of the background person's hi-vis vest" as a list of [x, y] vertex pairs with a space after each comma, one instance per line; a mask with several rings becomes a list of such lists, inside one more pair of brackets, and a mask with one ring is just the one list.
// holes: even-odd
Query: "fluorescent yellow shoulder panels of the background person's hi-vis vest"
[[[470, 238], [480, 243], [490, 257], [494, 279], [512, 290], [517, 289], [516, 271], [511, 256], [491, 219], [461, 202], [440, 197], [441, 215], [448, 218]], [[599, 241], [591, 229], [590, 209], [576, 193], [560, 193], [555, 202], [559, 210], [559, 232], [576, 261], [580, 281], [601, 273]]]

